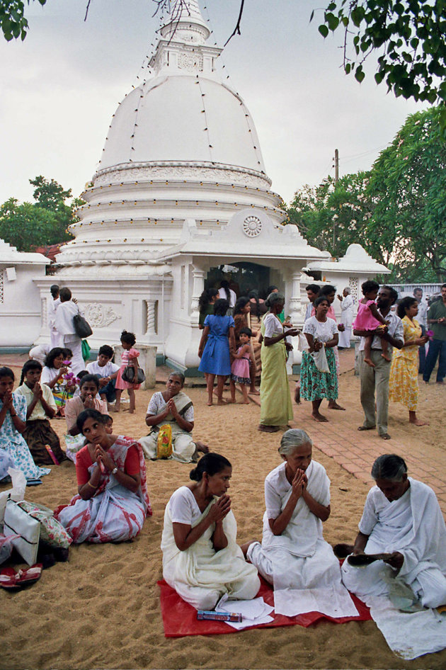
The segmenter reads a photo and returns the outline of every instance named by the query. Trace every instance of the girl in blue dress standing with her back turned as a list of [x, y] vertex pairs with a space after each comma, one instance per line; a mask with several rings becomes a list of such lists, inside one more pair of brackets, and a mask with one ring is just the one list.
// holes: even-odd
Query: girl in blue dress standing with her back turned
[[205, 329], [201, 336], [198, 356], [198, 370], [205, 373], [207, 386], [207, 404], [212, 405], [215, 375], [217, 375], [217, 404], [226, 404], [223, 400], [225, 378], [231, 374], [230, 351], [235, 351], [234, 319], [227, 316], [229, 309], [227, 300], [217, 300], [214, 314], [205, 319]]

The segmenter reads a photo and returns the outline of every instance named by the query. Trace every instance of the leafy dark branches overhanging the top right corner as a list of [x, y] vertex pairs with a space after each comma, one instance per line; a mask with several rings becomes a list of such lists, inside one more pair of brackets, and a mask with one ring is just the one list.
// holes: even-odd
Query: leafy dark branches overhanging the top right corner
[[377, 84], [385, 81], [397, 97], [446, 101], [445, 0], [332, 0], [319, 33], [338, 29], [346, 74], [362, 81], [376, 52]]

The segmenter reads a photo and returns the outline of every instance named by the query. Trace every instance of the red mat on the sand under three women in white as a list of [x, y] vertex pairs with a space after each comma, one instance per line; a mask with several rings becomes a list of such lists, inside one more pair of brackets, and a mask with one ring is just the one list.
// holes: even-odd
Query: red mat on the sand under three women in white
[[[263, 596], [263, 600], [268, 605], [274, 606], [274, 592], [270, 584], [261, 579], [261, 588], [257, 596]], [[180, 596], [169, 586], [164, 579], [158, 582], [161, 591], [161, 614], [163, 615], [164, 635], [166, 637], [185, 637], [186, 635], [224, 635], [229, 632], [240, 632], [222, 621], [197, 620], [197, 611], [195, 607], [183, 601]], [[304, 626], [307, 628], [319, 619], [327, 619], [333, 623], [345, 623], [346, 621], [368, 621], [370, 616], [369, 608], [365, 606], [359, 598], [350, 594], [355, 603], [359, 616], [345, 616], [333, 619], [319, 612], [308, 612], [297, 616], [284, 616], [282, 614], [271, 613], [274, 620], [270, 623], [263, 623], [260, 626], [250, 626], [250, 628], [275, 628], [276, 626]]]

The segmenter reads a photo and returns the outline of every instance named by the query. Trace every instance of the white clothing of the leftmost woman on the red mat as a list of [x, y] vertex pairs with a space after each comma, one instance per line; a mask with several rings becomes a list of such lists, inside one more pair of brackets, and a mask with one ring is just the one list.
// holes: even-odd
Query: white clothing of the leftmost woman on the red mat
[[163, 576], [178, 595], [196, 609], [212, 610], [223, 594], [228, 594], [233, 600], [255, 598], [260, 588], [256, 568], [246, 563], [236, 544], [237, 525], [232, 512], [223, 520], [228, 540], [224, 549], [216, 552], [212, 545], [215, 523], [185, 551], [176, 546], [173, 523], [197, 526], [216, 500], [213, 499], [201, 512], [193, 492], [188, 487], [181, 487], [171, 496], [164, 513], [161, 538]]

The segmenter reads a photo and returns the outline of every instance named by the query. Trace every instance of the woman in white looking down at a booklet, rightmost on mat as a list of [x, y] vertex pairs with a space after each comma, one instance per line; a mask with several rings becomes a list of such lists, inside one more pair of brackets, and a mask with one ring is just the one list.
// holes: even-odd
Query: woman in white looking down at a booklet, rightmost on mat
[[372, 477], [355, 544], [339, 545], [345, 554], [372, 556], [362, 569], [345, 561], [343, 583], [360, 598], [386, 596], [398, 575], [421, 605], [446, 605], [446, 527], [435, 493], [408, 477], [395, 454], [379, 456]]

